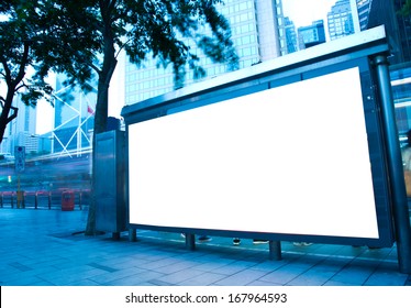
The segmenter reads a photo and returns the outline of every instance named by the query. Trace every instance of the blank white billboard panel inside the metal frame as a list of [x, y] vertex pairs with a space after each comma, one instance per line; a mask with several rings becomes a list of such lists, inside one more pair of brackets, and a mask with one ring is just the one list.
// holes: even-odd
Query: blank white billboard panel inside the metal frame
[[130, 223], [378, 239], [358, 68], [129, 125]]

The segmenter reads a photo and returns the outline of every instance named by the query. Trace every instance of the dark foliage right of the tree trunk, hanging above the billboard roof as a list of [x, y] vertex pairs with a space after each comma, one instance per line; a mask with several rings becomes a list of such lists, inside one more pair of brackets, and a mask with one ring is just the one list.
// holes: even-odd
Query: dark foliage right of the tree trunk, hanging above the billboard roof
[[122, 13], [123, 20], [132, 26], [124, 48], [132, 62], [140, 64], [152, 54], [159, 65], [173, 64], [176, 87], [184, 82], [186, 64], [195, 77], [204, 75], [200, 55], [192, 52], [195, 45], [212, 61], [237, 68], [230, 25], [215, 9], [220, 1], [141, 1], [134, 8], [135, 1], [124, 2], [129, 10]]

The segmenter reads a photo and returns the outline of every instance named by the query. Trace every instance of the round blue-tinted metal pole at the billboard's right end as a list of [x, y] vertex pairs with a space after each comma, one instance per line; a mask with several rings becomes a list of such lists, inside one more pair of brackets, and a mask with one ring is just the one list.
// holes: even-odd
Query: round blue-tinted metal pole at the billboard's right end
[[406, 182], [398, 139], [393, 97], [391, 91], [388, 59], [378, 55], [374, 59], [381, 98], [384, 133], [387, 145], [388, 173], [392, 197], [392, 212], [397, 240], [398, 263], [401, 273], [411, 274], [411, 229], [408, 213]]

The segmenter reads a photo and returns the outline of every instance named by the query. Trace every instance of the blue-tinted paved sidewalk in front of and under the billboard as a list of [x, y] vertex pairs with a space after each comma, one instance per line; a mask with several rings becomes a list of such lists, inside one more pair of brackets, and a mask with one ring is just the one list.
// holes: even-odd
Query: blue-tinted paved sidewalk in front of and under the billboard
[[397, 249], [268, 245], [213, 238], [188, 251], [180, 234], [137, 231], [138, 241], [85, 237], [87, 211], [0, 208], [2, 286], [404, 286]]

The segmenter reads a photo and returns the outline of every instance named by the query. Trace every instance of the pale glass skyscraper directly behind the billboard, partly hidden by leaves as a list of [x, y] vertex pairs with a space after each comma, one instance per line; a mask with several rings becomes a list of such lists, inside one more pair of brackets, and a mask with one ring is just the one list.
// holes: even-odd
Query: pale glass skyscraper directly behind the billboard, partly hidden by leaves
[[[225, 0], [219, 10], [230, 22], [240, 68], [288, 53], [281, 0]], [[200, 51], [198, 54], [201, 55]], [[224, 64], [212, 63], [204, 56], [200, 59], [206, 78], [227, 72]], [[174, 90], [173, 68], [164, 69], [156, 64], [155, 59], [147, 59], [141, 67], [125, 64], [125, 105]], [[196, 82], [192, 73], [187, 72], [185, 85], [192, 82]]]

